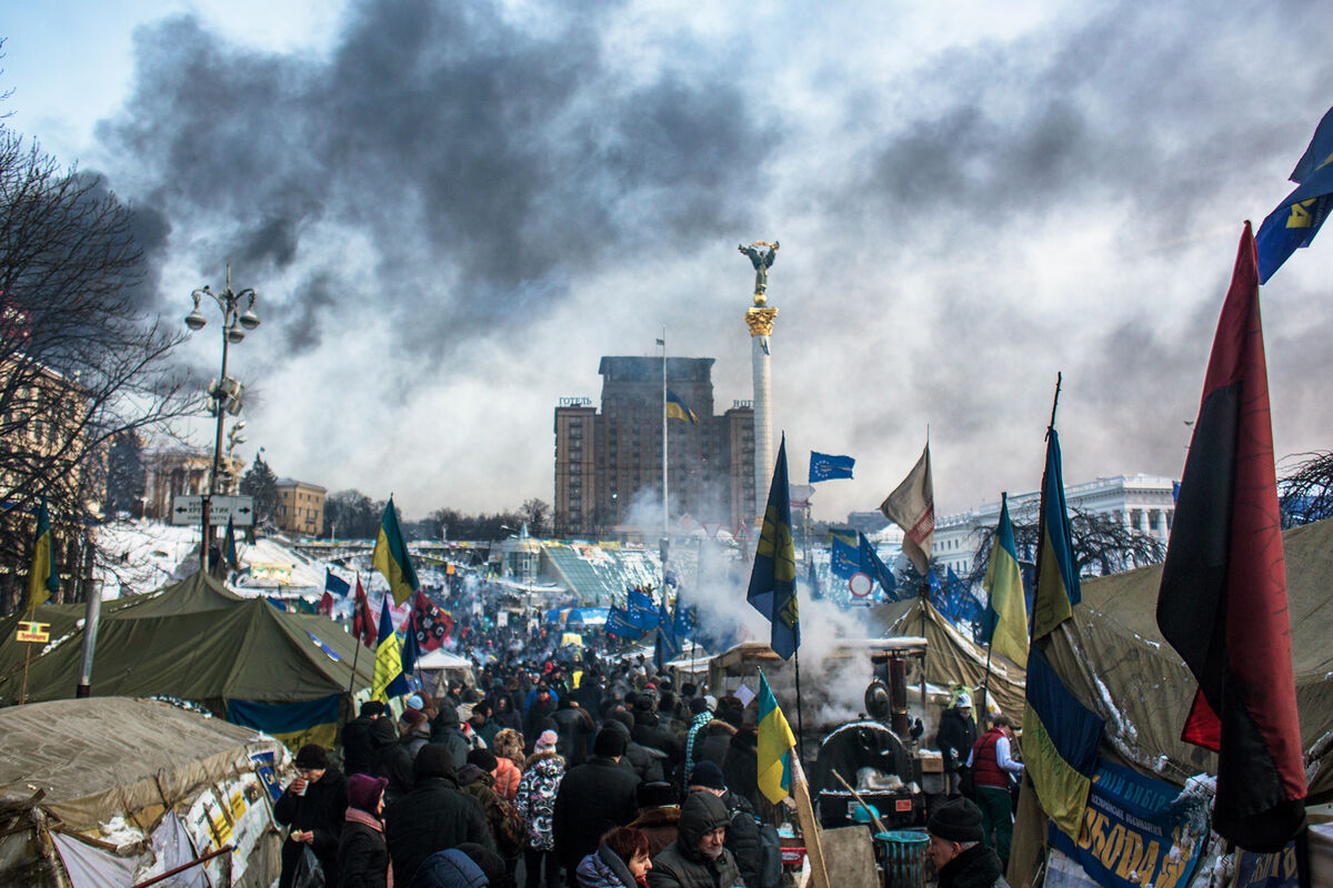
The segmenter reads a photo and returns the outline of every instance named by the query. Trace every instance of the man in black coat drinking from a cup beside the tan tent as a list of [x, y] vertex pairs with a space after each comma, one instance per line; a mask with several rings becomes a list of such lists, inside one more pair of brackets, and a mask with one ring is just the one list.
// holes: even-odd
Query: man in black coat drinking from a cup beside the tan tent
[[308, 743], [296, 754], [296, 771], [283, 797], [273, 805], [273, 817], [291, 827], [283, 843], [283, 875], [279, 888], [291, 888], [296, 867], [309, 848], [324, 868], [324, 880], [337, 884], [337, 845], [347, 811], [347, 777], [329, 764], [324, 747]]

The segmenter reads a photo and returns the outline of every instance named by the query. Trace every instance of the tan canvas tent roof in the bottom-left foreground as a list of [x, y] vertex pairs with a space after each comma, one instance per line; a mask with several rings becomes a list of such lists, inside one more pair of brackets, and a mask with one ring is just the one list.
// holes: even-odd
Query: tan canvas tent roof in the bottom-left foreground
[[160, 812], [247, 767], [253, 752], [284, 755], [252, 728], [125, 698], [0, 708], [0, 796], [44, 789], [41, 808], [76, 831]]

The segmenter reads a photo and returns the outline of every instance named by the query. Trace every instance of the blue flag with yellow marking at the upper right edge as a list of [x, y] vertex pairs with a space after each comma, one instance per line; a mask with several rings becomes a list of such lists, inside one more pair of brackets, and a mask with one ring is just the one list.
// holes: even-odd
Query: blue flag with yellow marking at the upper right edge
[[1314, 130], [1314, 138], [1290, 180], [1296, 190], [1277, 205], [1254, 236], [1258, 282], [1266, 284], [1298, 248], [1309, 246], [1333, 208], [1333, 109]]

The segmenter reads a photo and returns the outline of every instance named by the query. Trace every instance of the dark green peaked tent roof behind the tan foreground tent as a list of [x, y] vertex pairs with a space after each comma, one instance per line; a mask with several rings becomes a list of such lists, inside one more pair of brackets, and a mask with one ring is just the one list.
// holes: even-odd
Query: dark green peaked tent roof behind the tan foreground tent
[[[83, 604], [37, 607], [35, 619], [51, 623], [52, 643], [32, 651], [29, 702], [73, 694], [83, 659]], [[13, 640], [17, 619], [0, 622], [3, 700], [21, 694], [27, 644]], [[311, 700], [369, 686], [373, 656], [359, 656], [356, 648], [355, 639], [327, 616], [288, 614], [195, 574], [152, 598], [105, 603], [92, 691], [176, 696], [219, 714], [225, 712], [227, 699]]]

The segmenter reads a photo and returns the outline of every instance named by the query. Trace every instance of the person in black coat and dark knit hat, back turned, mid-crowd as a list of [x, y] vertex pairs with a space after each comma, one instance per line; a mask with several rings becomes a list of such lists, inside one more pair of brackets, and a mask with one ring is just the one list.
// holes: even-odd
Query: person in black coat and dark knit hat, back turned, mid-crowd
[[603, 728], [593, 740], [593, 756], [565, 772], [556, 793], [552, 832], [556, 855], [567, 872], [593, 851], [612, 827], [628, 825], [639, 816], [639, 777], [620, 767], [625, 738]]

